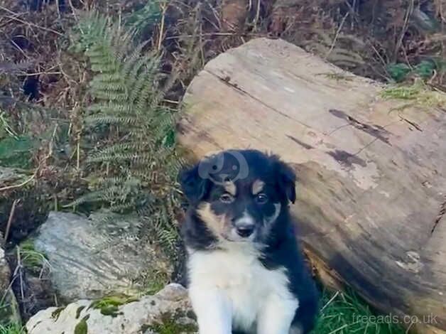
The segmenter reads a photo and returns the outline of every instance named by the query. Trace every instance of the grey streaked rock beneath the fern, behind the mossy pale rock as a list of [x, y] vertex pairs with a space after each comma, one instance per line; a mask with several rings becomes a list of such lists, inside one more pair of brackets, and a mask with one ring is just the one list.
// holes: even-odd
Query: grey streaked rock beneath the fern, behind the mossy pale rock
[[173, 271], [156, 245], [135, 237], [137, 219], [102, 218], [50, 212], [38, 229], [34, 247], [47, 257], [50, 279], [62, 302], [141, 291], [159, 285], [160, 273], [167, 277]]

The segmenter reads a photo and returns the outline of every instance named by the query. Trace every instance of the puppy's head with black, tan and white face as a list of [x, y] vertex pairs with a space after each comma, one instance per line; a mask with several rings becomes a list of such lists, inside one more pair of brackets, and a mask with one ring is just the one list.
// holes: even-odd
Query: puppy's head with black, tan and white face
[[180, 175], [192, 212], [218, 239], [263, 242], [295, 201], [295, 174], [255, 150], [222, 151]]

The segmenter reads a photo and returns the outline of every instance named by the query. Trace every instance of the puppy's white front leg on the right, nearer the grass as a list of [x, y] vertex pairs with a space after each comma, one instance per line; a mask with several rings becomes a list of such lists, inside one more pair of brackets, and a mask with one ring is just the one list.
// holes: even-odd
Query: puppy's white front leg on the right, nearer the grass
[[257, 320], [257, 334], [289, 334], [299, 302], [271, 294], [266, 298]]

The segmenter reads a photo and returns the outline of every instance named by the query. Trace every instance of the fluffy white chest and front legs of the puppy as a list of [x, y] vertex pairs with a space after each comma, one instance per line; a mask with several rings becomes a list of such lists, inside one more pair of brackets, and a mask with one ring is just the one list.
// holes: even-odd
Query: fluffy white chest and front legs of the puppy
[[288, 334], [298, 300], [288, 290], [284, 269], [266, 269], [257, 255], [249, 244], [190, 252], [190, 297], [200, 334], [229, 334], [232, 325], [251, 333]]

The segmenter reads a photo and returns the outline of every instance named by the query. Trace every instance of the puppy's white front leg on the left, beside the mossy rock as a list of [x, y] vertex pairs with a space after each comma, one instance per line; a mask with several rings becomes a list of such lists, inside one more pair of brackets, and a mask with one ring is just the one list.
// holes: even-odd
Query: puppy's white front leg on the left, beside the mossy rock
[[200, 334], [232, 333], [232, 306], [221, 290], [190, 287], [189, 296]]

